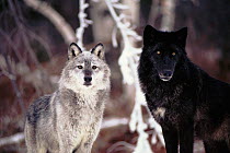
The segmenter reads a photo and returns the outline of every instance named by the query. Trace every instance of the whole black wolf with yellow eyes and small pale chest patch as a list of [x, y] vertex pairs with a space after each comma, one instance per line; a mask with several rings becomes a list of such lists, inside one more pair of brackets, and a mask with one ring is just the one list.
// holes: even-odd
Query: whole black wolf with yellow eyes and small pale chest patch
[[148, 107], [161, 125], [166, 152], [192, 153], [194, 134], [206, 153], [230, 153], [230, 85], [209, 76], [186, 56], [187, 28], [147, 25], [138, 74]]

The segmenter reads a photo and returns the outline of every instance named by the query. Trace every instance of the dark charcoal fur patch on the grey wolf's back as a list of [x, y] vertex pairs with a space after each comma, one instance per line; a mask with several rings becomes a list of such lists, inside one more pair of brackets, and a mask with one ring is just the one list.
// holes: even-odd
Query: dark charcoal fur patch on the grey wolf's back
[[34, 101], [26, 113], [26, 119], [30, 123], [34, 125], [41, 118], [42, 114], [45, 115], [48, 113], [50, 98], [51, 95], [44, 95]]

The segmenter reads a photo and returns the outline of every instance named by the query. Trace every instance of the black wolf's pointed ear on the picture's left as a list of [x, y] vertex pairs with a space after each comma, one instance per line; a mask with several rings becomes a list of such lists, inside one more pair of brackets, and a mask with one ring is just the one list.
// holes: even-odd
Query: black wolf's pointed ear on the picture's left
[[143, 30], [143, 46], [154, 43], [158, 31], [151, 25], [147, 25]]

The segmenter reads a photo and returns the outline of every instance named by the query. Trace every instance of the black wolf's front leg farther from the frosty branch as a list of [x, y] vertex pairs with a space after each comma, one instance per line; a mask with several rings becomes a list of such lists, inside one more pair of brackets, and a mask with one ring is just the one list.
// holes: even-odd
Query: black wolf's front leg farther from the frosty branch
[[193, 153], [194, 127], [193, 121], [180, 126], [180, 153]]

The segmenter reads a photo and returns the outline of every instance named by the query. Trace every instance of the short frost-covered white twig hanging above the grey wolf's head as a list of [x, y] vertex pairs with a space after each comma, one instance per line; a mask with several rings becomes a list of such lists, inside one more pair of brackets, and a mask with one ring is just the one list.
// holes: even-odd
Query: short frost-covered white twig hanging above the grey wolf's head
[[88, 27], [90, 24], [93, 22], [91, 20], [87, 19], [87, 13], [84, 13], [84, 10], [89, 7], [89, 3], [85, 3], [85, 0], [79, 0], [79, 22], [80, 22], [80, 27], [76, 30], [76, 37], [77, 37], [77, 44], [80, 48], [83, 49], [83, 34], [84, 34], [84, 28]]

